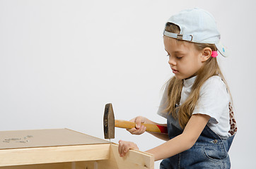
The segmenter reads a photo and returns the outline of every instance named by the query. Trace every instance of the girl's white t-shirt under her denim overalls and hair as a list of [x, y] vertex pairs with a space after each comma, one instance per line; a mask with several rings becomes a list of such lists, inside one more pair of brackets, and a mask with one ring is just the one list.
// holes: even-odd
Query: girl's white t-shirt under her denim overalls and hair
[[[195, 79], [196, 77], [191, 77], [190, 79], [184, 80], [180, 105], [182, 105], [187, 99], [187, 96], [189, 96]], [[165, 87], [163, 98], [158, 108], [158, 114], [164, 118], [167, 118], [168, 115], [168, 113], [163, 113], [163, 110], [166, 108], [166, 100], [168, 99], [167, 88], [168, 87]], [[229, 102], [231, 102], [231, 98], [226, 89], [226, 84], [221, 80], [221, 77], [212, 76], [202, 85], [197, 106], [195, 106], [192, 114], [209, 115], [211, 118], [207, 123], [208, 127], [221, 138], [226, 139], [231, 136], [231, 134], [228, 133], [230, 130]]]

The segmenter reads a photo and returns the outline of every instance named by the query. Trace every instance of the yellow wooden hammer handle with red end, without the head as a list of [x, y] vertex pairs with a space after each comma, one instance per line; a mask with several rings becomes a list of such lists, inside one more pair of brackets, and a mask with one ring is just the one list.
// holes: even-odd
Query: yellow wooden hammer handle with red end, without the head
[[[146, 131], [148, 132], [160, 132], [165, 134], [168, 133], [167, 127], [163, 125], [153, 125], [146, 123], [141, 123], [141, 125], [144, 125], [146, 127]], [[126, 120], [115, 120], [115, 127], [131, 129], [135, 127], [135, 123]]]

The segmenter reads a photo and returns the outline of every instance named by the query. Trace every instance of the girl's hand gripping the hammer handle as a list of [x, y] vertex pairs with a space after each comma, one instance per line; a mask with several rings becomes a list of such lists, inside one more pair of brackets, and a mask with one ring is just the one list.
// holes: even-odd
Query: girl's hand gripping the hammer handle
[[136, 126], [134, 128], [127, 129], [127, 131], [130, 132], [131, 134], [139, 135], [139, 134], [143, 134], [146, 131], [146, 127], [144, 125], [141, 125], [141, 123], [146, 122], [146, 118], [144, 118], [142, 116], [138, 116], [138, 117], [130, 120], [130, 122], [136, 123]]

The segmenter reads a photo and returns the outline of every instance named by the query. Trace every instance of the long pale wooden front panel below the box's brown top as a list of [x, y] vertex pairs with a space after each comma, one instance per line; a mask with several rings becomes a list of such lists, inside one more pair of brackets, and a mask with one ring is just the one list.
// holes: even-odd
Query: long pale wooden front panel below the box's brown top
[[0, 166], [105, 160], [110, 144], [0, 150]]

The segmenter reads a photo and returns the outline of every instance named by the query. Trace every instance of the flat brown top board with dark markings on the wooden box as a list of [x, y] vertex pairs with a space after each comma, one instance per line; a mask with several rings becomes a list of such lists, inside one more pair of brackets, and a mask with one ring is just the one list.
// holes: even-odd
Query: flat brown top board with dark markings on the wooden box
[[107, 143], [110, 142], [69, 129], [16, 130], [0, 132], [0, 149]]

